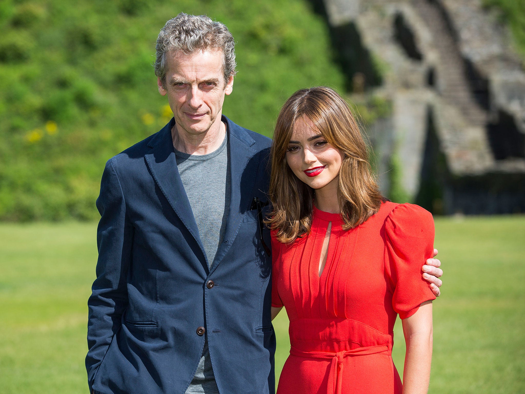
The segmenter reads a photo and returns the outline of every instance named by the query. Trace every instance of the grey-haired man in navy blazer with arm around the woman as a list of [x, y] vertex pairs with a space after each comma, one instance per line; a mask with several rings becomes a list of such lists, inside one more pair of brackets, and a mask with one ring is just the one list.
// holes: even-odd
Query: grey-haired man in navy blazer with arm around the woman
[[[97, 200], [95, 393], [275, 390], [260, 221], [271, 140], [222, 115], [235, 67], [232, 35], [206, 16], [180, 14], [159, 34], [155, 74], [174, 118], [107, 162]], [[441, 271], [425, 267], [438, 294]]]

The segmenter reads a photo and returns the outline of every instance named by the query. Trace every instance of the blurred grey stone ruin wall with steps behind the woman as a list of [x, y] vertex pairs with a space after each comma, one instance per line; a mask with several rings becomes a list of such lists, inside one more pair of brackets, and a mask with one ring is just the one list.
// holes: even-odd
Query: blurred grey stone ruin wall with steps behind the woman
[[[395, 154], [401, 185], [415, 198], [426, 165], [429, 122], [454, 182], [478, 177], [482, 183], [487, 174], [525, 180], [519, 178], [525, 174], [524, 62], [497, 15], [478, 0], [324, 0], [324, 7], [332, 34], [351, 24], [382, 65], [382, 84], [366, 94], [392, 102], [391, 116], [369, 129], [383, 191], [390, 188]], [[449, 196], [445, 213], [456, 210], [454, 182], [443, 185]], [[525, 204], [525, 195], [509, 198]]]

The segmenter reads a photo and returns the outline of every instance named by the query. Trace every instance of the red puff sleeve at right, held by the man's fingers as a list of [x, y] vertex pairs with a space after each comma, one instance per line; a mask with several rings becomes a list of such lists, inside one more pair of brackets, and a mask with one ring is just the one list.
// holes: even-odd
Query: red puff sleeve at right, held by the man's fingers
[[393, 288], [392, 307], [402, 319], [419, 305], [436, 299], [422, 278], [422, 266], [434, 250], [432, 214], [413, 204], [400, 204], [385, 221], [385, 271]]

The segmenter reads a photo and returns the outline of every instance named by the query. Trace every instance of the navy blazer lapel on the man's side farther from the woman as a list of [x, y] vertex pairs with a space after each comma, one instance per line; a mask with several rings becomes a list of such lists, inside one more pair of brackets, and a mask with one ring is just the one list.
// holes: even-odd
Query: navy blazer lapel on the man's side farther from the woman
[[[177, 169], [175, 150], [173, 149], [173, 141], [171, 138], [171, 129], [174, 124], [175, 120], [172, 118], [172, 120], [159, 131], [156, 137], [149, 142], [148, 145], [152, 150], [145, 155], [145, 159], [155, 182], [159, 185], [166, 200], [170, 203], [179, 219], [184, 223], [201, 248], [205, 262], [203, 266], [207, 271], [208, 264], [204, 246], [199, 237], [192, 207]], [[201, 259], [199, 258], [199, 260]]]

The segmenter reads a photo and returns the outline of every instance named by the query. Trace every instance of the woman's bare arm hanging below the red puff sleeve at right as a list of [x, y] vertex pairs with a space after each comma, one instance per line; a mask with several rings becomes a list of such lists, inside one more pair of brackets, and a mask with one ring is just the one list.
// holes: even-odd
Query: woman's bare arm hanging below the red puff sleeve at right
[[421, 304], [402, 322], [406, 342], [403, 394], [426, 394], [432, 361], [432, 301]]

